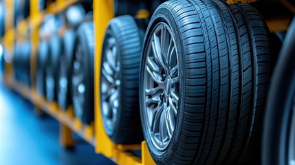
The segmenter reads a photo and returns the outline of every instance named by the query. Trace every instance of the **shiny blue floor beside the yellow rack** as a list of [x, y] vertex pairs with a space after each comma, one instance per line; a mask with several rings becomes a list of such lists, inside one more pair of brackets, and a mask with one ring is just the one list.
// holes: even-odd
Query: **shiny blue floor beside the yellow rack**
[[0, 80], [0, 164], [113, 164], [83, 140], [73, 151], [59, 145], [58, 122], [37, 117], [30, 102]]

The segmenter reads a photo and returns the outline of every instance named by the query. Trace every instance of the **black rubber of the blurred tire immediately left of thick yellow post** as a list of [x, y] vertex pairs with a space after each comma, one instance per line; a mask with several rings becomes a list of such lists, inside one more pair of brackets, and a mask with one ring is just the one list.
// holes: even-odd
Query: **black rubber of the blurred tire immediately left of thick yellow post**
[[[84, 78], [83, 83], [85, 84], [85, 104], [83, 104], [83, 111], [81, 115], [76, 113], [76, 105], [74, 102], [74, 85], [72, 85], [71, 96], [74, 107], [74, 112], [76, 117], [80, 118], [80, 120], [85, 124], [91, 124], [94, 120], [94, 23], [93, 22], [85, 22], [80, 25], [78, 30], [76, 31], [76, 41], [75, 47], [78, 45], [82, 47], [83, 53], [83, 71]], [[76, 58], [76, 49], [74, 50], [74, 58], [73, 62]], [[74, 64], [72, 63], [72, 68], [74, 68]], [[72, 75], [73, 75], [72, 70]], [[72, 81], [73, 82], [73, 78]]]

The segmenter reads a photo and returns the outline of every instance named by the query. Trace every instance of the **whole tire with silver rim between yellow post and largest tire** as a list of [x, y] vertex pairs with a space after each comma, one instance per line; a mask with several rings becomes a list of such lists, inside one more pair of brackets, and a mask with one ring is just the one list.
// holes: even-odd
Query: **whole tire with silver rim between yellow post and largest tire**
[[105, 34], [100, 105], [105, 131], [117, 144], [140, 144], [143, 140], [138, 110], [143, 37], [143, 30], [129, 15], [112, 19]]

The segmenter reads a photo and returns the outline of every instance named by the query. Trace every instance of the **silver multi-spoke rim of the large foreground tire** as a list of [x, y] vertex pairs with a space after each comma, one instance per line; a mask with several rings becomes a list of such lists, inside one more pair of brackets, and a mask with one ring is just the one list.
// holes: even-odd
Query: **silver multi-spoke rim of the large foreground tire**
[[179, 60], [166, 23], [158, 23], [151, 34], [144, 52], [144, 118], [153, 145], [163, 151], [171, 142], [177, 120]]

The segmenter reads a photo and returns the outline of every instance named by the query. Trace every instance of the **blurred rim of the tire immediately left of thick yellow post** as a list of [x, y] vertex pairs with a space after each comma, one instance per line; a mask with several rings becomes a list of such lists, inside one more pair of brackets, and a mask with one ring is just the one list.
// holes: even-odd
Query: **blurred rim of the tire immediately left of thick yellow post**
[[83, 107], [85, 104], [85, 75], [83, 66], [82, 47], [76, 47], [76, 53], [73, 65], [72, 89], [73, 89], [73, 104], [76, 116], [82, 118]]

